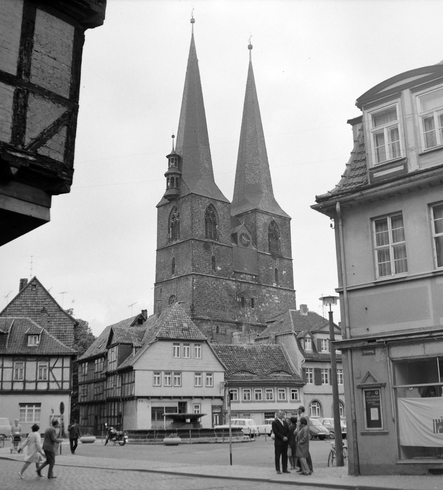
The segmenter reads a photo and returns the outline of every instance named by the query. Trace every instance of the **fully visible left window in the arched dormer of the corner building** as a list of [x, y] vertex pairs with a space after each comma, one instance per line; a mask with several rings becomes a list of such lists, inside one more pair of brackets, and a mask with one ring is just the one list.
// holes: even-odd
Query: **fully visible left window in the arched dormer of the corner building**
[[376, 164], [401, 157], [397, 106], [371, 114], [371, 134]]

